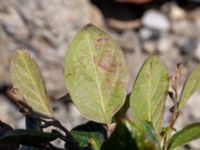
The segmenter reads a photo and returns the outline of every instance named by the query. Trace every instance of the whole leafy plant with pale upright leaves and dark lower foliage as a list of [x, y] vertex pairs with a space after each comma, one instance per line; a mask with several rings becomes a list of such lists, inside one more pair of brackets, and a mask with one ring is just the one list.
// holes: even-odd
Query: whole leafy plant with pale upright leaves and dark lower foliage
[[[53, 117], [36, 62], [27, 52], [17, 51], [11, 63], [14, 91], [10, 95], [26, 117], [26, 129], [12, 129], [0, 122], [0, 147], [5, 150], [177, 149], [200, 137], [200, 123], [171, 136], [181, 108], [200, 87], [200, 66], [197, 66], [178, 95], [181, 68], [178, 64], [175, 75], [169, 77], [159, 58], [150, 56], [142, 65], [132, 92], [127, 93], [129, 75], [118, 44], [97, 27], [85, 26], [67, 51], [65, 83], [74, 105], [90, 121], [68, 131]], [[163, 127], [167, 95], [174, 106], [169, 126]], [[131, 117], [127, 119], [128, 108]], [[48, 127], [53, 128], [45, 132]], [[56, 139], [64, 141], [64, 147], [53, 145]]]

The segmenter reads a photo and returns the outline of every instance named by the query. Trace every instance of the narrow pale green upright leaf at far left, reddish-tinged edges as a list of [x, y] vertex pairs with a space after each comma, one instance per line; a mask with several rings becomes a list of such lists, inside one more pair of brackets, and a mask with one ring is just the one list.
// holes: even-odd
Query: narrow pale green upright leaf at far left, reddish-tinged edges
[[44, 79], [36, 62], [25, 51], [17, 51], [11, 62], [11, 77], [17, 94], [34, 111], [52, 116]]

